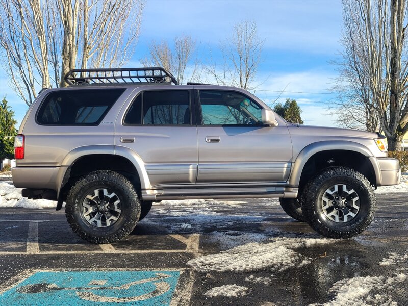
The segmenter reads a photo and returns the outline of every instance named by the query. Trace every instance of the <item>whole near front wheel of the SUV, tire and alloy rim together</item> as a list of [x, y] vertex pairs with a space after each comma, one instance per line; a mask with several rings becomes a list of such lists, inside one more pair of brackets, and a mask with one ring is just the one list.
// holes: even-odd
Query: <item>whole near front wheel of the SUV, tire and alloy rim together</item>
[[302, 211], [309, 225], [329, 238], [350, 238], [372, 222], [376, 197], [363, 174], [347, 167], [324, 169], [302, 193]]

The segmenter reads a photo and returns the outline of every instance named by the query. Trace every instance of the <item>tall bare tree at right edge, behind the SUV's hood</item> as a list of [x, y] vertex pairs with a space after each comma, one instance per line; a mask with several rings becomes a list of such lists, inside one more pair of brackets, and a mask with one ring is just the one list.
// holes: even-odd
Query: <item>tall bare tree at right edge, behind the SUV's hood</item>
[[362, 101], [375, 109], [390, 150], [399, 150], [408, 132], [406, 12], [406, 0], [343, 0], [345, 52], [353, 72], [361, 69], [349, 82], [369, 89]]

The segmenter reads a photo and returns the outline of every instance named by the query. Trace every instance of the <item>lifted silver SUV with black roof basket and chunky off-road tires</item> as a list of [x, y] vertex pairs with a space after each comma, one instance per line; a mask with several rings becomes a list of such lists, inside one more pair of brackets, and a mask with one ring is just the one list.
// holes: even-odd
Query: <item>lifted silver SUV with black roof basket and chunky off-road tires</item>
[[152, 202], [279, 198], [333, 238], [371, 223], [374, 189], [400, 181], [384, 137], [286, 122], [249, 92], [188, 83], [163, 68], [75, 69], [44, 89], [15, 141], [13, 182], [66, 202], [93, 243], [128, 235]]

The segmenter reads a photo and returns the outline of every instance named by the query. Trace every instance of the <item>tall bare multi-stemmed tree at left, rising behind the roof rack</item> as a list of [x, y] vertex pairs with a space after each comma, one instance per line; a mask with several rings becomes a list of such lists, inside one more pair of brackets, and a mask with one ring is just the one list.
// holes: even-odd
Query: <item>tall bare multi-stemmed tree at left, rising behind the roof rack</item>
[[31, 105], [38, 87], [65, 86], [70, 69], [129, 60], [142, 0], [4, 0], [0, 46], [10, 84]]

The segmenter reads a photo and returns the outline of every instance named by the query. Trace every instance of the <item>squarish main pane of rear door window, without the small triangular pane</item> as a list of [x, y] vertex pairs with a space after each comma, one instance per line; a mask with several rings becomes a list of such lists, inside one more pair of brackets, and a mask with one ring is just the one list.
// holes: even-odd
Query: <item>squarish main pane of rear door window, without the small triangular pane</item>
[[143, 124], [190, 124], [186, 90], [143, 92]]

